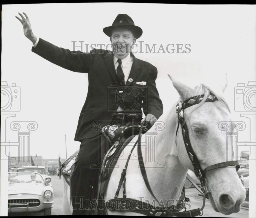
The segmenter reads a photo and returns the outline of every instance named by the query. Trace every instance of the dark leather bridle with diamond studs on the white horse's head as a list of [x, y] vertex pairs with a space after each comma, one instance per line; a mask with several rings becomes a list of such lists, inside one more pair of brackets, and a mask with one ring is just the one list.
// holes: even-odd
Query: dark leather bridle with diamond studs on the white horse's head
[[[179, 102], [176, 105], [176, 113], [178, 113], [178, 126], [177, 126], [177, 130], [176, 130], [176, 140], [177, 140], [177, 133], [178, 133], [179, 124], [180, 124], [180, 126], [182, 128], [183, 141], [184, 141], [189, 159], [191, 160], [192, 165], [194, 167], [195, 175], [198, 177], [198, 179], [200, 179], [202, 187], [205, 185], [205, 174], [209, 170], [227, 167], [227, 166], [236, 166], [236, 170], [238, 170], [240, 168], [240, 165], [236, 161], [226, 161], [226, 162], [217, 163], [217, 164], [208, 166], [204, 170], [202, 170], [200, 163], [197, 159], [197, 156], [191, 146], [191, 143], [189, 140], [188, 128], [187, 128], [183, 113], [184, 113], [184, 109], [186, 109], [192, 105], [199, 104], [203, 98], [204, 98], [204, 95], [197, 95], [197, 96], [194, 96], [192, 98], [185, 100], [183, 103]], [[213, 101], [217, 101], [217, 100], [218, 100], [217, 97], [210, 93], [210, 95], [207, 97], [205, 102], [213, 102]], [[176, 141], [176, 146], [177, 146], [177, 141]]]

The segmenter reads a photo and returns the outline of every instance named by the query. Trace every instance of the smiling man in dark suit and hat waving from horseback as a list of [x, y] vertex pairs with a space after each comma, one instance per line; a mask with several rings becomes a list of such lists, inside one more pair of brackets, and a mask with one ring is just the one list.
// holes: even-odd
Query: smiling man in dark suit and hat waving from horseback
[[[141, 122], [153, 125], [163, 113], [155, 80], [157, 68], [137, 59], [132, 45], [141, 37], [142, 29], [127, 14], [119, 14], [112, 26], [103, 32], [110, 37], [112, 51], [93, 49], [90, 53], [59, 48], [36, 37], [28, 16], [16, 17], [23, 25], [24, 35], [33, 42], [32, 51], [46, 60], [74, 72], [88, 73], [88, 93], [78, 120], [75, 141], [80, 150], [70, 178], [73, 214], [85, 214], [88, 208], [78, 206], [90, 200], [91, 178], [104, 155], [99, 130], [116, 121], [127, 122], [127, 115], [137, 114]], [[120, 119], [122, 118], [122, 119]], [[101, 127], [101, 128], [97, 128]]]

